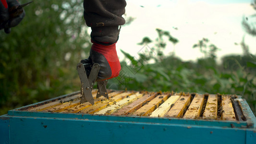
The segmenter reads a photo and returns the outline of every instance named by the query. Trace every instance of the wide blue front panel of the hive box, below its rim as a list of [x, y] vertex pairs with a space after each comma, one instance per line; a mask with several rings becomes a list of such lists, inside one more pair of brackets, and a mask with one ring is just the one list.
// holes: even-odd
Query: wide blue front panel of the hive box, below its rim
[[237, 128], [58, 118], [13, 117], [10, 120], [10, 144], [216, 144], [217, 142], [245, 144], [246, 142], [246, 131]]

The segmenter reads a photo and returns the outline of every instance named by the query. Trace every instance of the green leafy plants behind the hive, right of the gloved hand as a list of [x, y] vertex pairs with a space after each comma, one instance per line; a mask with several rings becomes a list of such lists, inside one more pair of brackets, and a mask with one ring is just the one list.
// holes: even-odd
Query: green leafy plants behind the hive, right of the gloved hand
[[[199, 41], [198, 46], [212, 47], [207, 45], [208, 41], [203, 39]], [[161, 47], [165, 44], [165, 41], [160, 40], [156, 41], [155, 45]], [[160, 48], [150, 49], [152, 53], [156, 53], [155, 51]], [[202, 50], [207, 57], [196, 62], [184, 62], [174, 55], [161, 57], [163, 59], [159, 57], [145, 59], [146, 54], [141, 54], [139, 59], [135, 59], [122, 51], [127, 59], [121, 63], [120, 76], [109, 81], [110, 88], [236, 94], [246, 98], [256, 114], [256, 56], [227, 56], [218, 65], [215, 57], [211, 55], [211, 50], [210, 48]], [[155, 60], [154, 63], [149, 62], [152, 59]]]

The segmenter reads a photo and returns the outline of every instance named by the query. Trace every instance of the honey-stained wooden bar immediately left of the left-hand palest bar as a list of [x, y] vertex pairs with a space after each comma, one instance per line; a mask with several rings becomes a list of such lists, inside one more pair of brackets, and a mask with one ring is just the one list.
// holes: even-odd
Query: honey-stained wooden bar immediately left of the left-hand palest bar
[[123, 98], [132, 95], [132, 94], [133, 94], [133, 92], [125, 92], [125, 93], [119, 94], [117, 96], [110, 97], [109, 100], [102, 101], [102, 102], [100, 102], [100, 103], [98, 103], [96, 105], [93, 105], [93, 106], [91, 106], [89, 108], [81, 110], [80, 113], [93, 114], [95, 112], [100, 111], [103, 108], [109, 107], [110, 105], [112, 105], [112, 104], [122, 100]]

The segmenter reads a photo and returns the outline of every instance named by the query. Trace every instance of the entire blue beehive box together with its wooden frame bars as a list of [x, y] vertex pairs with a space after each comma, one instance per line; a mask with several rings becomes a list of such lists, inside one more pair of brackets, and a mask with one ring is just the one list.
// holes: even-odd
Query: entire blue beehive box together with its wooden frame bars
[[[109, 90], [109, 99], [80, 104], [80, 92], [0, 116], [6, 144], [255, 144], [256, 118], [235, 95]], [[159, 139], [160, 138], [160, 139]]]

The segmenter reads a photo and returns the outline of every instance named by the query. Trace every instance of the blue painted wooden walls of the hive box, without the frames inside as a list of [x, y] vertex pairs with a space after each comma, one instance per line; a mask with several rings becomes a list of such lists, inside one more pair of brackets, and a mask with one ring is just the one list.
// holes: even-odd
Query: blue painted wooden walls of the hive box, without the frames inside
[[66, 96], [71, 95], [16, 108], [0, 116], [0, 144], [256, 144], [256, 118], [245, 100], [240, 102], [249, 119], [240, 122], [20, 110]]

